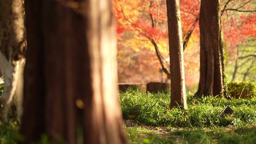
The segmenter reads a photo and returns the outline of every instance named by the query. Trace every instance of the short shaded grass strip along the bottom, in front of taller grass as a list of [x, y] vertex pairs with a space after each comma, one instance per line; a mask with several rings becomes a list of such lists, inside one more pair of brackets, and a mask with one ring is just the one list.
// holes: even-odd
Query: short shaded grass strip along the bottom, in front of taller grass
[[131, 144], [256, 144], [256, 126], [125, 128]]

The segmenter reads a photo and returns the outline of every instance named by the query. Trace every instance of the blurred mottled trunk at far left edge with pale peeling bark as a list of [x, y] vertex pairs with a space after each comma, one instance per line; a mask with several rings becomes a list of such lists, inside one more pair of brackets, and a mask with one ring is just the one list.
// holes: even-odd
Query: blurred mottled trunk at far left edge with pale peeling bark
[[23, 68], [26, 36], [21, 0], [0, 0], [0, 69], [4, 78], [4, 93], [0, 100], [0, 120], [7, 121], [12, 105], [22, 113]]

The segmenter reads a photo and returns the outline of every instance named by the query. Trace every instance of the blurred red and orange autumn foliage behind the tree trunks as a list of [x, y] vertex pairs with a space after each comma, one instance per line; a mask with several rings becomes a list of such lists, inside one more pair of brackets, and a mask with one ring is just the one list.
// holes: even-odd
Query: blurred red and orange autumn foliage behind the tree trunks
[[[114, 16], [117, 19], [117, 32], [119, 33], [120, 81], [139, 82], [137, 79], [141, 78], [140, 81], [145, 82], [143, 78], [146, 74], [154, 75], [151, 80], [159, 81], [159, 79], [154, 79], [154, 77], [159, 77], [156, 71], [151, 73], [143, 71], [151, 67], [154, 67], [155, 70], [162, 69], [170, 78], [168, 45], [166, 45], [168, 44], [168, 32], [165, 0], [114, 0], [113, 3]], [[199, 70], [199, 57], [197, 58], [199, 45], [193, 44], [199, 43], [200, 6], [201, 0], [180, 0], [184, 66], [185, 72], [190, 74]], [[247, 42], [250, 36], [256, 37], [254, 12], [253, 0], [220, 0], [219, 15], [222, 19], [222, 39], [224, 49], [228, 52], [232, 51], [233, 46]], [[148, 39], [148, 37], [151, 38]], [[191, 44], [186, 50], [189, 42]], [[151, 53], [151, 51], [155, 52]], [[126, 58], [126, 53], [132, 55], [131, 59]], [[154, 53], [156, 56], [152, 55]], [[143, 59], [141, 59], [142, 57]], [[193, 60], [187, 57], [193, 57]], [[194, 61], [197, 59], [198, 61]], [[136, 75], [136, 79], [133, 75]]]

